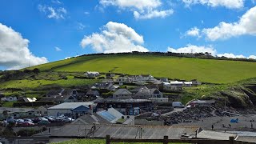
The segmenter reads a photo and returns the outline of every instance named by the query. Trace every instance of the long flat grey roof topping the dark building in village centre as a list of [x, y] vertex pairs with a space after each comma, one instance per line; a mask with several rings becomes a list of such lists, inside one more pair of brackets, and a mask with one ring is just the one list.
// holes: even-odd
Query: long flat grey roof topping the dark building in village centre
[[95, 103], [112, 103], [112, 102], [119, 102], [119, 103], [140, 103], [140, 102], [151, 102], [148, 99], [118, 99], [118, 98], [105, 98], [105, 99], [96, 99]]

